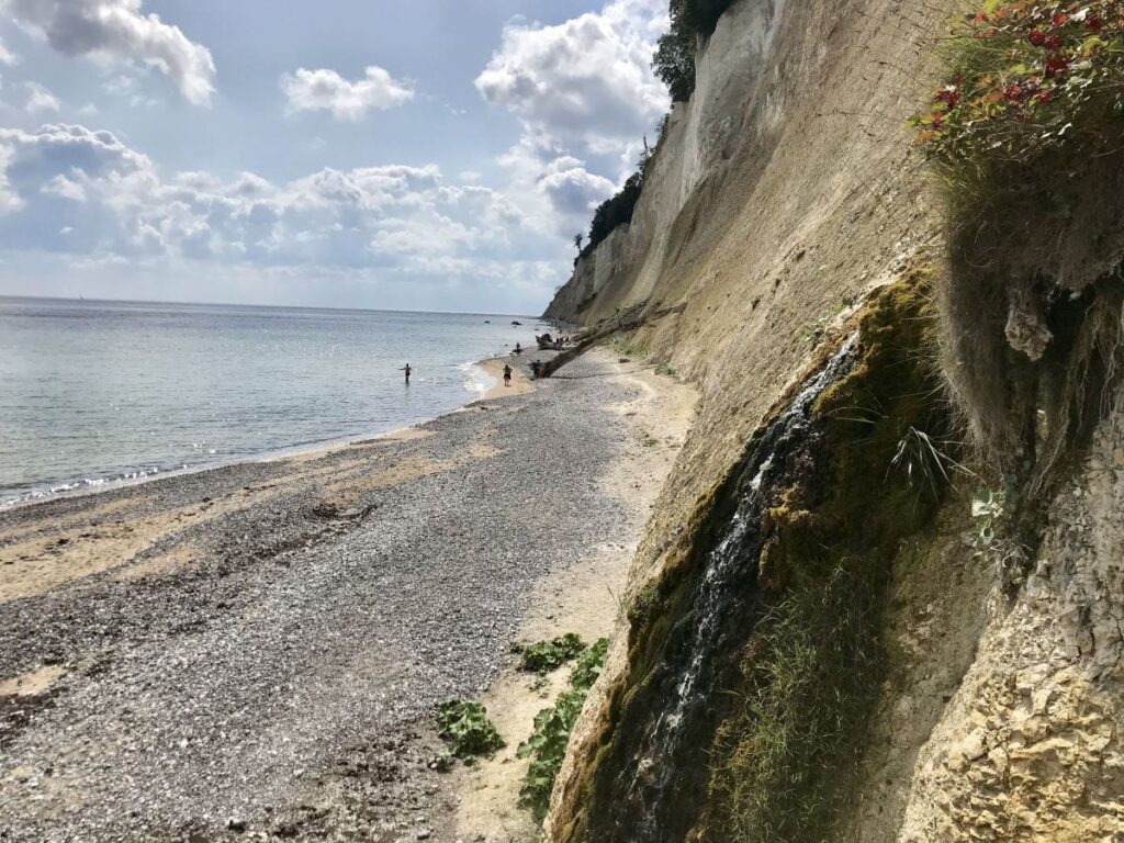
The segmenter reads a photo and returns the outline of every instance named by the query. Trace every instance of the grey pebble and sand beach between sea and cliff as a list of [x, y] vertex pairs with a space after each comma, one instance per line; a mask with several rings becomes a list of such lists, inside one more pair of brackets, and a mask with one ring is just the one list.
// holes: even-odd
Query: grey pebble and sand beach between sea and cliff
[[0, 839], [520, 839], [518, 764], [433, 770], [434, 707], [484, 699], [514, 752], [545, 701], [511, 641], [611, 632], [691, 404], [598, 352], [392, 436], [0, 513]]

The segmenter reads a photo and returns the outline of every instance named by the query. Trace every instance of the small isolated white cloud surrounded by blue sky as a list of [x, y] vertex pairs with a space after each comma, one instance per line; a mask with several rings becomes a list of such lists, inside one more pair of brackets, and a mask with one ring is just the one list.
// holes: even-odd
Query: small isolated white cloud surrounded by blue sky
[[414, 98], [413, 88], [375, 66], [355, 82], [334, 70], [301, 67], [281, 78], [281, 90], [290, 110], [330, 111], [337, 120], [360, 120], [369, 111], [395, 108]]

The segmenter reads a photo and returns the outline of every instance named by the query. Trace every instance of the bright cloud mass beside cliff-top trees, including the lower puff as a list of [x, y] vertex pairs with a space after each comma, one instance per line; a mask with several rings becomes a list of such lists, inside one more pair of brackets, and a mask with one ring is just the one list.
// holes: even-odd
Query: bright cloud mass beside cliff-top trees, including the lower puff
[[651, 66], [667, 10], [667, 0], [609, 0], [556, 26], [505, 27], [475, 85], [522, 125], [498, 162], [528, 227], [569, 242], [631, 174], [642, 138], [670, 107]]

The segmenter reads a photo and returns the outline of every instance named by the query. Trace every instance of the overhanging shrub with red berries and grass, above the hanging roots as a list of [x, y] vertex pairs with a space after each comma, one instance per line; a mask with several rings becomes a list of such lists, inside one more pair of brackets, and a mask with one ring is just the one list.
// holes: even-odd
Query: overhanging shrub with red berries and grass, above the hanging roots
[[912, 123], [973, 262], [1071, 289], [1114, 266], [1124, 4], [986, 0], [941, 51], [945, 84]]

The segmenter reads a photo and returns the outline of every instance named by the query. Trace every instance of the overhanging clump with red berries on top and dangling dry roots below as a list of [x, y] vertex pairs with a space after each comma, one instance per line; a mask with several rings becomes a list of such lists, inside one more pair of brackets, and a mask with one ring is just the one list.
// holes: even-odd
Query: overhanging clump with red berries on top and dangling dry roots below
[[940, 49], [913, 123], [948, 219], [943, 369], [989, 466], [1034, 486], [1078, 438], [1072, 373], [1120, 335], [1093, 321], [1124, 259], [1124, 3], [984, 0]]

